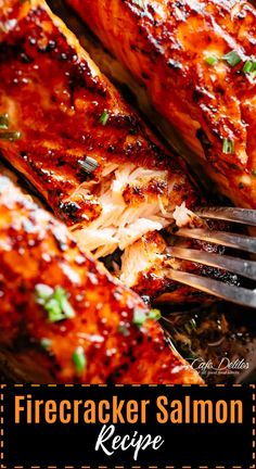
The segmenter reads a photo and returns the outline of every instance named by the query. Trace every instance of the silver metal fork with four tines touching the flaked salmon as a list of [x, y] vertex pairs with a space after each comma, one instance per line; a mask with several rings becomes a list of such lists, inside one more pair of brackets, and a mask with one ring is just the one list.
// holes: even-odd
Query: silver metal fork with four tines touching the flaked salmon
[[[195, 214], [202, 218], [227, 220], [256, 227], [256, 211], [254, 210], [233, 207], [200, 207], [195, 211]], [[175, 233], [175, 236], [202, 240], [256, 254], [256, 238], [251, 236], [197, 228], [180, 228]], [[254, 280], [256, 289], [255, 261], [247, 261], [240, 257], [232, 257], [178, 246], [167, 248], [166, 254], [169, 254], [171, 257], [191, 261], [238, 274], [239, 276]], [[219, 280], [214, 280], [175, 269], [170, 269], [168, 277], [171, 280], [193, 287], [203, 292], [218, 296], [219, 299], [256, 308], [256, 290], [227, 284]]]

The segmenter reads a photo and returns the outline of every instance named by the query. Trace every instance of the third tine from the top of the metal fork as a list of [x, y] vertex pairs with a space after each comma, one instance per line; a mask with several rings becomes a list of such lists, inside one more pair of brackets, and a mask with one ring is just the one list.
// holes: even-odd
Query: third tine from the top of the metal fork
[[252, 280], [256, 280], [256, 262], [254, 261], [244, 261], [238, 257], [176, 246], [167, 248], [166, 252], [174, 257], [229, 270]]

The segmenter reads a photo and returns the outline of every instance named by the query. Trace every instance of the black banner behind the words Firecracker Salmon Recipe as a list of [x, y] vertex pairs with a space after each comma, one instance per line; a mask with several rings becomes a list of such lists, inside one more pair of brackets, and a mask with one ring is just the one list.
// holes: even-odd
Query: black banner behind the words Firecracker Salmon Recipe
[[[139, 458], [133, 460], [133, 449], [117, 451], [107, 457], [102, 451], [95, 452], [97, 438], [102, 424], [21, 424], [14, 423], [14, 395], [31, 394], [35, 398], [44, 401], [53, 398], [61, 401], [87, 400], [100, 401], [113, 394], [120, 398], [151, 400], [148, 408], [146, 424], [117, 424], [115, 434], [132, 434], [136, 430], [142, 434], [159, 434], [165, 443], [158, 451], [145, 449], [139, 452]], [[223, 398], [240, 398], [244, 406], [243, 424], [159, 424], [156, 421], [155, 401], [158, 395], [167, 395], [170, 400], [182, 400], [190, 395], [193, 398], [210, 398], [213, 402]], [[242, 466], [248, 468], [253, 465], [253, 389], [252, 386], [106, 386], [92, 385], [82, 388], [75, 385], [66, 388], [57, 385], [49, 388], [41, 385], [5, 386], [3, 389], [3, 424], [4, 424], [4, 460], [8, 468], [15, 465], [29, 468], [40, 465], [41, 468], [57, 466], [82, 465], [98, 468], [105, 465], [113, 468], [115, 465], [125, 466]]]

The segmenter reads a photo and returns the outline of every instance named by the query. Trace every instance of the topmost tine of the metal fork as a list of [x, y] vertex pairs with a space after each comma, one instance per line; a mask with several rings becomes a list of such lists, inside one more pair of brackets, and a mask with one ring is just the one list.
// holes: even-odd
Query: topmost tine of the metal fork
[[199, 207], [195, 208], [195, 213], [202, 218], [222, 219], [227, 221], [256, 226], [255, 210], [234, 207]]

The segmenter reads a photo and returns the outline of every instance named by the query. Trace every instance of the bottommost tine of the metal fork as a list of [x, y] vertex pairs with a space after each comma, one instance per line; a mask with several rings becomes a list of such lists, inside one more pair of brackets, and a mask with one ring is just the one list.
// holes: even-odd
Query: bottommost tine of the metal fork
[[171, 280], [202, 290], [219, 299], [236, 303], [242, 306], [256, 307], [256, 292], [242, 287], [230, 286], [207, 277], [200, 277], [180, 270], [169, 270], [168, 277]]

